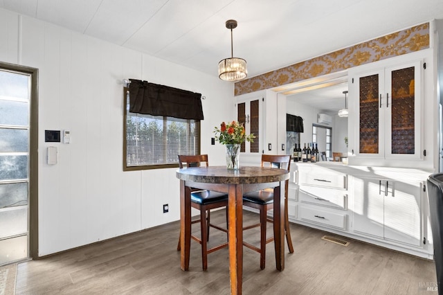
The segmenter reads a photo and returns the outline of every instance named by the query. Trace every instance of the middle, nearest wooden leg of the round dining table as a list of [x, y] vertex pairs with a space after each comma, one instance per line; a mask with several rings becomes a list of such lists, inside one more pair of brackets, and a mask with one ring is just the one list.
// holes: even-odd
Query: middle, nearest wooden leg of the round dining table
[[243, 283], [243, 186], [229, 185], [228, 196], [230, 294], [242, 294]]

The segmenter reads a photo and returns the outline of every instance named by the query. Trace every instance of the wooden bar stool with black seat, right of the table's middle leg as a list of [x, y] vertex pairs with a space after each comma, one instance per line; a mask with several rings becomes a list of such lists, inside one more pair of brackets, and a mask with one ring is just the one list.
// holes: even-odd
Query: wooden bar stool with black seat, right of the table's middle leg
[[[262, 154], [261, 166], [264, 167], [264, 163], [269, 163], [270, 167], [289, 170], [291, 166], [290, 155], [270, 155]], [[284, 235], [286, 236], [289, 253], [293, 253], [293, 245], [291, 240], [291, 232], [289, 231], [289, 217], [288, 217], [288, 186], [289, 180], [284, 183]], [[260, 226], [260, 248], [255, 247], [252, 244], [243, 242], [245, 247], [257, 251], [260, 253], [260, 268], [264, 269], [266, 258], [266, 244], [272, 242], [274, 238], [266, 240], [266, 222], [273, 222], [271, 218], [267, 217], [267, 211], [273, 208], [273, 189], [259, 190], [257, 192], [247, 193], [243, 195], [243, 205], [251, 208], [258, 209], [260, 211], [260, 223], [246, 226], [244, 231]]]

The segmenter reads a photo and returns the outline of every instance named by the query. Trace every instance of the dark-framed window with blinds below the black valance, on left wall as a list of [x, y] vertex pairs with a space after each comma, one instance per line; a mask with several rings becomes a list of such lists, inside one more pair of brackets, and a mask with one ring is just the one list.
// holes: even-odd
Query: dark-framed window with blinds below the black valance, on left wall
[[125, 89], [123, 170], [179, 167], [179, 154], [200, 153], [200, 121], [129, 111]]

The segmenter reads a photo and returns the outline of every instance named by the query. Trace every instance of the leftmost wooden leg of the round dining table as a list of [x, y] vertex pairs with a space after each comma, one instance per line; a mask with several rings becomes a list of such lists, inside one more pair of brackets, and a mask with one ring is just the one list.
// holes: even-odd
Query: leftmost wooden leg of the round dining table
[[189, 269], [191, 247], [191, 190], [180, 181], [180, 268]]

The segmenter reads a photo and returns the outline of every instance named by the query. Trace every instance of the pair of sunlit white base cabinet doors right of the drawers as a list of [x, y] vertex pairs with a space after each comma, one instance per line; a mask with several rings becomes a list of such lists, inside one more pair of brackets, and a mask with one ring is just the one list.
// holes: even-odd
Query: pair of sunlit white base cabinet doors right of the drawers
[[422, 183], [352, 177], [356, 233], [422, 245]]

